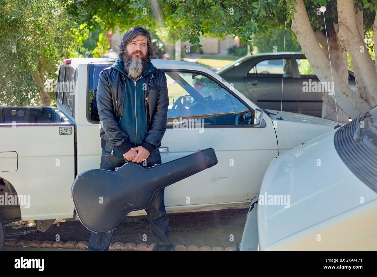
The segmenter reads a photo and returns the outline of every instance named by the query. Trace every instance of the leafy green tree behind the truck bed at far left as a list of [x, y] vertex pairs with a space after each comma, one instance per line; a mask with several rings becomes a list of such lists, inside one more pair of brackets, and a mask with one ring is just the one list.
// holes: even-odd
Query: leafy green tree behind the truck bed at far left
[[0, 106], [50, 106], [57, 68], [87, 52], [81, 41], [90, 26], [54, 0], [2, 1], [0, 26]]

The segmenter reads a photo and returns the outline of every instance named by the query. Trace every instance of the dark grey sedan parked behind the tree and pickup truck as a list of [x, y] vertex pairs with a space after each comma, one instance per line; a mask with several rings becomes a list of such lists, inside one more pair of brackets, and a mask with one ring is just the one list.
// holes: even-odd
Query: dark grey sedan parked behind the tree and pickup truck
[[[284, 74], [283, 111], [321, 117], [323, 89], [307, 58], [286, 52], [284, 60], [282, 52], [248, 55], [216, 73], [261, 108], [274, 110], [280, 110]], [[355, 91], [352, 71], [348, 84]]]

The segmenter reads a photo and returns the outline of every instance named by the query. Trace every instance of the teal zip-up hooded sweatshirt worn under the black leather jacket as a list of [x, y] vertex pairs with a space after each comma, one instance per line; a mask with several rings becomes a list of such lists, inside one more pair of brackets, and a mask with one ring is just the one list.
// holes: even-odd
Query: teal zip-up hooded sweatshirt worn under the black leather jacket
[[[151, 74], [156, 68], [149, 61], [146, 70], [136, 80], [133, 80], [124, 68], [121, 59], [118, 59], [111, 67], [119, 70], [126, 80], [126, 95], [124, 95], [123, 111], [120, 120], [121, 129], [128, 135], [131, 144], [130, 147], [140, 146], [143, 144], [147, 134], [143, 84], [146, 83], [146, 76]], [[143, 146], [149, 152], [154, 149], [154, 146], [149, 142], [144, 143]], [[104, 149], [102, 151], [109, 153]], [[114, 147], [113, 155], [124, 158], [123, 154], [118, 147]]]

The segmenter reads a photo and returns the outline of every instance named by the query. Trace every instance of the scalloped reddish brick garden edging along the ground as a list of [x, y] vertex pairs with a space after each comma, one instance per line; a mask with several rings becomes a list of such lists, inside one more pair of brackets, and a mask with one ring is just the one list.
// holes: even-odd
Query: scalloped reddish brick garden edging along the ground
[[[88, 249], [88, 243], [85, 241], [80, 241], [78, 243], [69, 241], [69, 242], [52, 242], [50, 240], [44, 240], [41, 242], [40, 240], [33, 240], [28, 242], [26, 240], [20, 240], [16, 242], [15, 240], [8, 240], [5, 241], [5, 245], [7, 246], [28, 246], [28, 247], [39, 247], [39, 248], [74, 248], [74, 249]], [[146, 243], [139, 243], [136, 245], [135, 243], [121, 243], [115, 242], [114, 244], [110, 243], [109, 250], [126, 250], [126, 251], [152, 251], [154, 243], [151, 245], [147, 245]], [[174, 251], [236, 251], [234, 247], [227, 247], [222, 248], [220, 246], [215, 246], [214, 248], [210, 248], [209, 246], [202, 246], [199, 248], [195, 245], [190, 245], [188, 247], [184, 245], [177, 245], [175, 246]]]

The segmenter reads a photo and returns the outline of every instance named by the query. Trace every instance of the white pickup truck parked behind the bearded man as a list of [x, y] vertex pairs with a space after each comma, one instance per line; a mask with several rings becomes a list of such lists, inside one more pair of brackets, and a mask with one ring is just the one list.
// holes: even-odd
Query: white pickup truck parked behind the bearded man
[[[0, 231], [15, 220], [37, 220], [39, 231], [46, 231], [55, 219], [78, 220], [70, 190], [76, 175], [100, 166], [98, 74], [115, 61], [64, 60], [57, 108], [0, 107]], [[272, 159], [336, 125], [289, 112], [277, 120], [280, 112], [263, 112], [205, 66], [152, 63], [166, 74], [170, 100], [159, 148], [162, 162], [208, 147], [218, 157], [216, 166], [166, 188], [167, 212], [248, 208]], [[198, 124], [189, 128], [193, 119]], [[16, 194], [18, 203], [10, 201]], [[145, 211], [129, 215], [141, 214]]]

